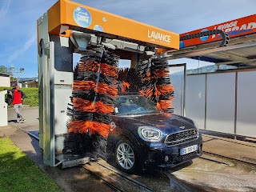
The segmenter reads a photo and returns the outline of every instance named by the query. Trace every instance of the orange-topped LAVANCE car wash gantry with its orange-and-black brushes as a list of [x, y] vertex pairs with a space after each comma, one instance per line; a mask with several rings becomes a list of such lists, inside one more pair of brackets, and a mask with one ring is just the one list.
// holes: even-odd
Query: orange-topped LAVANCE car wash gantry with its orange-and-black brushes
[[[226, 35], [212, 30], [182, 40], [210, 34]], [[225, 46], [228, 40], [223, 39]], [[138, 94], [121, 97], [119, 104], [133, 102], [130, 106], [134, 106], [140, 101], [148, 109], [153, 104], [161, 113], [172, 111], [174, 88], [168, 62], [161, 55], [166, 50], [178, 50], [179, 42], [179, 35], [167, 30], [76, 2], [56, 2], [38, 19], [39, 142], [44, 162], [68, 167], [86, 163], [92, 156], [106, 157], [107, 146], [112, 143], [108, 137], [118, 121], [113, 114], [122, 113], [115, 106], [118, 95]], [[74, 53], [81, 54], [75, 68]], [[129, 59], [130, 69], [118, 69], [119, 59]], [[150, 102], [140, 100], [140, 96]], [[144, 138], [162, 137], [158, 130], [141, 129]], [[195, 128], [189, 134], [199, 137]], [[129, 143], [118, 149], [127, 147], [122, 151], [124, 158], [133, 146]], [[200, 155], [200, 145], [191, 144], [186, 150]], [[174, 163], [170, 155], [163, 158]], [[121, 168], [129, 170], [135, 163], [130, 160], [129, 164], [120, 163]]]

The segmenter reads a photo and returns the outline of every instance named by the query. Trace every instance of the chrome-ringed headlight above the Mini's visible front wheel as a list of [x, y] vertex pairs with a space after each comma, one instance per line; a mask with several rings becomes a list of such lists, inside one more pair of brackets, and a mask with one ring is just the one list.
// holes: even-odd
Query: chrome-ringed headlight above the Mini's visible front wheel
[[154, 126], [140, 126], [138, 135], [146, 142], [158, 142], [161, 139], [162, 131]]

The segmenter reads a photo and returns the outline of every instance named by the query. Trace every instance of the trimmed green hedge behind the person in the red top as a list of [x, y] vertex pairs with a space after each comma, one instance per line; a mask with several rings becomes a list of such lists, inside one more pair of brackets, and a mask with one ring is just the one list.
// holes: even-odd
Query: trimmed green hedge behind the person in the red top
[[[11, 87], [3, 87], [0, 86], [0, 91], [2, 90], [11, 90]], [[24, 98], [23, 105], [28, 106], [38, 106], [38, 88], [21, 88], [24, 94], [26, 94], [26, 98]]]

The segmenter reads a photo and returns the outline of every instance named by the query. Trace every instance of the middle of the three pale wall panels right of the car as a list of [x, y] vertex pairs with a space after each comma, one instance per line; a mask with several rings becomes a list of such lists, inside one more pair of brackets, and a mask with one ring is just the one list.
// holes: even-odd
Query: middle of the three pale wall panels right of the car
[[206, 130], [234, 134], [235, 73], [207, 74]]

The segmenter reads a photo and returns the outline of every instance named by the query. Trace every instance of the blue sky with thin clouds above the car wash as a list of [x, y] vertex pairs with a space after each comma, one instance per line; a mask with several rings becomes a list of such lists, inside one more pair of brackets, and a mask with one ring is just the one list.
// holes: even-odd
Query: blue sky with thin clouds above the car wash
[[[25, 68], [21, 77], [37, 77], [37, 19], [57, 0], [0, 0], [0, 66]], [[243, 0], [75, 0], [99, 10], [178, 34], [255, 13], [256, 1]], [[203, 64], [200, 64], [203, 66]], [[188, 68], [198, 62], [188, 63]]]

